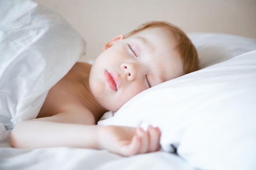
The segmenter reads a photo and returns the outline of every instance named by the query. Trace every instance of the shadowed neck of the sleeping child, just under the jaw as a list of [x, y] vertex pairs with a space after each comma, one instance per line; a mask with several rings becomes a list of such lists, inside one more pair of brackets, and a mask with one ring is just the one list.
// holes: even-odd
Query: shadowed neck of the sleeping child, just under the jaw
[[97, 121], [99, 121], [99, 119], [101, 118], [101, 116], [107, 112], [108, 110], [106, 110], [105, 108], [103, 108], [98, 102], [97, 100], [94, 98], [94, 96], [92, 95], [92, 92], [90, 90], [90, 86], [89, 86], [89, 76], [85, 77], [82, 80], [82, 84], [85, 88], [82, 95], [83, 95], [83, 103], [86, 106], [86, 108], [88, 108], [92, 114], [94, 115], [95, 121], [97, 123]]

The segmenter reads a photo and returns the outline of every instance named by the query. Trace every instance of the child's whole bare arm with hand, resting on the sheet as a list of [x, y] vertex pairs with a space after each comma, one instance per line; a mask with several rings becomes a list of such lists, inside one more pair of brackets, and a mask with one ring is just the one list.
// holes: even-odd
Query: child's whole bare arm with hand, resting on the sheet
[[[80, 115], [59, 113], [21, 122], [11, 132], [16, 148], [68, 146], [75, 148], [108, 149], [129, 156], [159, 150], [160, 131], [149, 127], [96, 126], [81, 124]], [[68, 120], [68, 121], [67, 121]]]

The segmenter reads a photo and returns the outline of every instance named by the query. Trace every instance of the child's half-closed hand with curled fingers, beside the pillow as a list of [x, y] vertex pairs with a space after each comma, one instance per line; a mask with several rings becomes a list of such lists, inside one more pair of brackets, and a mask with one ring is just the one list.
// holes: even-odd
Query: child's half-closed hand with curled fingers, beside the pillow
[[100, 148], [122, 156], [154, 152], [160, 149], [160, 129], [148, 130], [128, 126], [102, 126], [99, 132]]

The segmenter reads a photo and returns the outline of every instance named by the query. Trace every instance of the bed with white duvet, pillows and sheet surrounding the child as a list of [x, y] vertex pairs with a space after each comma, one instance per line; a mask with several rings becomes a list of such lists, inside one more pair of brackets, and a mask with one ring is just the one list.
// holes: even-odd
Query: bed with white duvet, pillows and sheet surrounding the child
[[188, 35], [199, 71], [139, 93], [98, 122], [159, 126], [160, 151], [121, 157], [107, 150], [17, 149], [11, 129], [36, 117], [49, 89], [85, 55], [86, 41], [42, 5], [0, 0], [0, 170], [254, 170], [256, 39]]

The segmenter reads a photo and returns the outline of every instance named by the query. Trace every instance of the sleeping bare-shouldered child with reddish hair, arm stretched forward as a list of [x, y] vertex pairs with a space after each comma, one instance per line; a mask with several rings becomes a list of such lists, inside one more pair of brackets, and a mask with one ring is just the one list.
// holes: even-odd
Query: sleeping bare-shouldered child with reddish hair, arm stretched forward
[[141, 91], [198, 70], [195, 46], [177, 26], [157, 21], [117, 36], [103, 49], [92, 65], [77, 62], [49, 90], [36, 119], [13, 128], [13, 147], [107, 149], [123, 156], [159, 150], [157, 127], [96, 123]]

